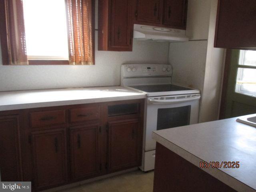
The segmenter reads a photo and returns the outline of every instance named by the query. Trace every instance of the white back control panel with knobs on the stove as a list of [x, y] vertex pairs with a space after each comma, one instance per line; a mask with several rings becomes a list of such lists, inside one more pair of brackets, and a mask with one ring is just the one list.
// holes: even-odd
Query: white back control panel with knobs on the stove
[[171, 76], [172, 67], [166, 64], [123, 64], [122, 77]]

